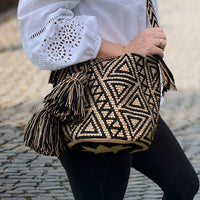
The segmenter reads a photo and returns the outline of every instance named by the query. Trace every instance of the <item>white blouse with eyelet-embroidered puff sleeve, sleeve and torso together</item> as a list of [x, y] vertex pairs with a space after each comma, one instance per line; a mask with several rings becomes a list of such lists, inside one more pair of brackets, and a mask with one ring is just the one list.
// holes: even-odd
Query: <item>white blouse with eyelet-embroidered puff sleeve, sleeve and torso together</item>
[[149, 26], [147, 16], [146, 0], [20, 0], [18, 6], [24, 50], [47, 70], [94, 59], [101, 38], [128, 44]]

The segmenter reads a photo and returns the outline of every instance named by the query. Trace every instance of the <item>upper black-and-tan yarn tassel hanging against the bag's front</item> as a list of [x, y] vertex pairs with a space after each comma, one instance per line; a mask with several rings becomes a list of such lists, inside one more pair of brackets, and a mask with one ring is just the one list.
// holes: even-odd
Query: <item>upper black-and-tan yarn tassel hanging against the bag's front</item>
[[44, 106], [61, 121], [80, 122], [85, 117], [84, 71], [72, 74], [57, 84], [44, 98]]

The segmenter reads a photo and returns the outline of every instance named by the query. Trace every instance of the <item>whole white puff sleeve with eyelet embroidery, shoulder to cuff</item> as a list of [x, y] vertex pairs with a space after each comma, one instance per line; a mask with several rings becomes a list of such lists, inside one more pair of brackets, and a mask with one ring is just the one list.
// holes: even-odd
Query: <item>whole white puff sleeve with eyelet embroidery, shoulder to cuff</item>
[[75, 15], [80, 0], [20, 0], [23, 48], [38, 69], [57, 70], [97, 56], [101, 37], [95, 16]]

